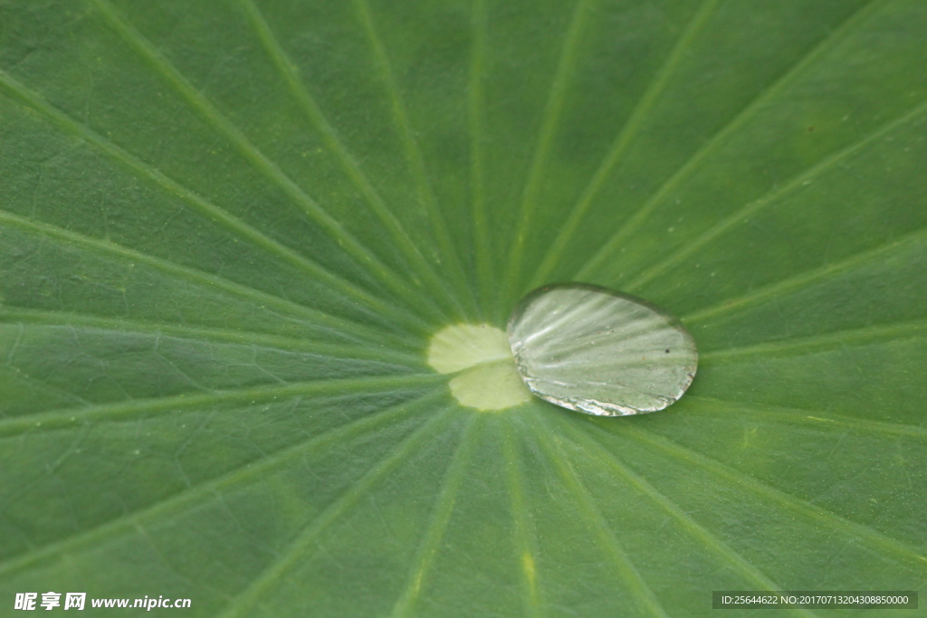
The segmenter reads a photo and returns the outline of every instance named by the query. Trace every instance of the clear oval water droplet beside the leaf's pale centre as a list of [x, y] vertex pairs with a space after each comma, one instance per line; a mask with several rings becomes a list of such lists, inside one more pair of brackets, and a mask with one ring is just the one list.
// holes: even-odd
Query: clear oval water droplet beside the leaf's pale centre
[[692, 384], [698, 353], [679, 320], [588, 284], [546, 285], [512, 311], [509, 345], [539, 397], [598, 416], [663, 410]]

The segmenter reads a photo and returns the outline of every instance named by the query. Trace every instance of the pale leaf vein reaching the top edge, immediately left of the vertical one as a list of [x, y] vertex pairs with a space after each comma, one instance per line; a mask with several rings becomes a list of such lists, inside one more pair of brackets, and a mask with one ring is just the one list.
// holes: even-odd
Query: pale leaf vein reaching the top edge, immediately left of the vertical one
[[461, 264], [460, 256], [454, 249], [451, 234], [448, 232], [447, 222], [444, 221], [444, 214], [438, 207], [438, 199], [435, 197], [431, 181], [428, 179], [428, 172], [425, 168], [425, 158], [422, 157], [422, 151], [418, 142], [415, 140], [412, 123], [409, 121], [409, 115], [406, 112], [405, 104], [400, 95], [400, 88], [393, 75], [392, 66], [387, 57], [387, 50], [380, 41], [379, 34], [376, 32], [374, 20], [370, 14], [370, 8], [366, 0], [352, 0], [358, 18], [361, 21], [364, 35], [374, 52], [376, 68], [380, 72], [380, 79], [384, 83], [389, 95], [390, 109], [393, 114], [393, 120], [399, 128], [402, 150], [406, 161], [412, 171], [413, 180], [419, 195], [419, 201], [428, 211], [428, 219], [432, 223], [432, 230], [435, 239], [438, 241], [438, 248], [441, 251], [443, 260], [450, 266], [451, 276], [456, 280], [459, 290], [468, 290], [468, 301], [470, 309], [476, 314], [476, 298], [473, 290], [466, 281], [464, 267]]

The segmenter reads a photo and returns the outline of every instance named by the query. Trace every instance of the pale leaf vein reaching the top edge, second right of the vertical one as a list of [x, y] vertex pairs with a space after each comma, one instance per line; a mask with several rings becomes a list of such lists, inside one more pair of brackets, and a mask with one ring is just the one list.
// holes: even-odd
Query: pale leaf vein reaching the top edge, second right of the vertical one
[[705, 23], [714, 12], [717, 1], [718, 0], [705, 0], [698, 11], [692, 16], [685, 30], [679, 35], [679, 39], [667, 55], [667, 59], [664, 61], [663, 66], [654, 74], [654, 80], [650, 82], [647, 90], [641, 95], [641, 98], [631, 111], [628, 120], [616, 135], [615, 141], [599, 164], [598, 169], [595, 170], [595, 174], [592, 176], [590, 183], [579, 196], [577, 203], [570, 209], [570, 213], [566, 217], [564, 225], [560, 228], [560, 232], [557, 233], [556, 238], [554, 238], [551, 247], [544, 255], [544, 259], [541, 260], [540, 266], [535, 272], [529, 287], [537, 287], [540, 284], [544, 284], [553, 268], [560, 262], [566, 246], [573, 240], [579, 223], [589, 211], [592, 201], [595, 199], [596, 195], [599, 195], [599, 192], [602, 190], [609, 176], [616, 170], [617, 165], [622, 158], [624, 158], [629, 145], [631, 145], [634, 138], [637, 137], [644, 120], [646, 120], [650, 110], [654, 107], [654, 103], [666, 89], [669, 78], [679, 67], [682, 58], [686, 56], [686, 52], [692, 46], [692, 41], [695, 40], [699, 32], [702, 32]]

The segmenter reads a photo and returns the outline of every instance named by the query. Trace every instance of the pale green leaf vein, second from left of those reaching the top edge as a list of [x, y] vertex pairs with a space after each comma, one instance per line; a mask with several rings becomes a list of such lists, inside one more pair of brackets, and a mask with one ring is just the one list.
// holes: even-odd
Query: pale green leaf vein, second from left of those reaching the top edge
[[[322, 134], [325, 145], [335, 154], [338, 163], [341, 165], [341, 169], [364, 196], [376, 217], [386, 226], [387, 231], [392, 236], [397, 246], [400, 247], [406, 259], [414, 265], [419, 275], [425, 277], [425, 279], [434, 285], [433, 289], [443, 294], [451, 303], [456, 303], [456, 299], [447, 290], [446, 282], [441, 280], [434, 269], [431, 268], [431, 265], [422, 255], [418, 246], [415, 245], [413, 239], [402, 228], [400, 221], [393, 212], [387, 208], [387, 204], [383, 201], [383, 197], [377, 193], [374, 185], [370, 183], [364, 175], [360, 164], [349, 153], [347, 146], [341, 142], [334, 127], [332, 127], [325, 118], [322, 109], [310, 94], [309, 88], [300, 79], [296, 64], [286, 55], [283, 45], [280, 44], [276, 35], [274, 35], [271, 30], [270, 25], [267, 23], [266, 19], [264, 19], [263, 15], [261, 15], [258, 6], [256, 6], [252, 0], [240, 1], [248, 16], [248, 21], [258, 34], [260, 43], [263, 44], [267, 55], [271, 57], [273, 66], [280, 72], [290, 92], [296, 98], [300, 107], [302, 107], [303, 112], [309, 117], [316, 130]], [[460, 307], [456, 307], [456, 309], [458, 311], [462, 310]]]

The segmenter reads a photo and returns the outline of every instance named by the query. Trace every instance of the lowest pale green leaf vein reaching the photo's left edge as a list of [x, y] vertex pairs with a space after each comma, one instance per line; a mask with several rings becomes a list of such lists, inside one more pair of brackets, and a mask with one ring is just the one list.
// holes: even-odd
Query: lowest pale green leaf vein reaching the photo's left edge
[[233, 469], [201, 484], [186, 487], [184, 490], [167, 498], [162, 498], [141, 511], [127, 512], [94, 528], [58, 539], [40, 549], [32, 550], [26, 555], [0, 562], [0, 576], [17, 573], [36, 563], [48, 561], [69, 552], [94, 547], [105, 539], [132, 530], [142, 522], [170, 516], [172, 513], [192, 505], [197, 500], [217, 494], [223, 489], [247, 482], [249, 479], [260, 479], [300, 455], [330, 445], [345, 444], [352, 437], [362, 435], [364, 432], [374, 432], [389, 423], [396, 423], [404, 416], [411, 415], [415, 410], [432, 403], [438, 397], [444, 397], [443, 390], [426, 394], [423, 397], [413, 399], [413, 401], [406, 401], [399, 406], [371, 413], [293, 446], [263, 454], [257, 460], [237, 465]]

